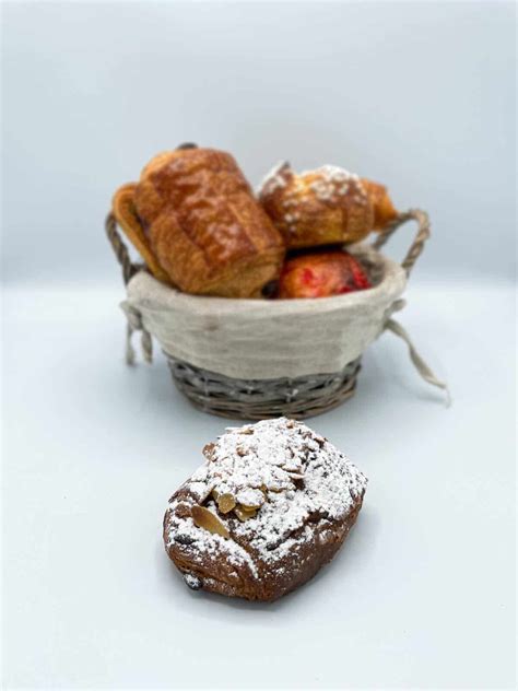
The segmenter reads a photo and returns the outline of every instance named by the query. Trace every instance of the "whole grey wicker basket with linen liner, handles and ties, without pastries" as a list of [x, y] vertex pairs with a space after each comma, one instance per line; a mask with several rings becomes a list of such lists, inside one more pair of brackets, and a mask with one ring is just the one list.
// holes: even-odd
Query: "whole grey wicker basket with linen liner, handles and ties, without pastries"
[[[379, 248], [404, 222], [417, 222], [416, 236], [401, 265]], [[385, 330], [403, 338], [412, 362], [431, 384], [446, 389], [415, 352], [391, 315], [404, 306], [408, 276], [429, 236], [428, 216], [410, 210], [387, 226], [373, 245], [348, 247], [364, 265], [373, 288], [315, 300], [233, 300], [187, 295], [132, 263], [110, 213], [106, 232], [122, 267], [131, 336], [142, 333], [144, 359], [152, 336], [166, 355], [173, 380], [196, 408], [232, 419], [305, 419], [351, 398], [362, 354]]]

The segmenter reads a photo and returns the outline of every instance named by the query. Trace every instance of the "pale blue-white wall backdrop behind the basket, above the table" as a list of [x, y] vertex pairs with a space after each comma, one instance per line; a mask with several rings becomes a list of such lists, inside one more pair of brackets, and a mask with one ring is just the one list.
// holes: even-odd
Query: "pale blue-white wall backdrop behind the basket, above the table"
[[3, 13], [8, 280], [118, 280], [102, 231], [111, 192], [181, 141], [229, 150], [252, 183], [281, 157], [370, 176], [432, 215], [416, 274], [513, 277], [513, 3]]

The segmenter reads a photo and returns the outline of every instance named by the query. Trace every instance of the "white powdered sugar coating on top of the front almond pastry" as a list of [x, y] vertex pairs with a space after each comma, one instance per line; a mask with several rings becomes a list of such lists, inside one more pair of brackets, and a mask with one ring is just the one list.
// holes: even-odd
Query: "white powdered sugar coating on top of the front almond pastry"
[[[219, 514], [231, 539], [197, 527], [189, 507], [178, 511], [173, 499], [169, 543], [189, 546], [189, 558], [220, 553], [257, 576], [255, 560], [282, 570], [279, 562], [297, 543], [325, 539], [322, 528], [342, 519], [357, 505], [367, 480], [332, 444], [303, 423], [280, 418], [243, 428], [228, 428], [205, 452], [208, 460], [186, 483], [192, 501], [217, 514], [213, 496], [231, 493], [257, 507], [248, 520]], [[205, 497], [205, 500], [201, 500]]]

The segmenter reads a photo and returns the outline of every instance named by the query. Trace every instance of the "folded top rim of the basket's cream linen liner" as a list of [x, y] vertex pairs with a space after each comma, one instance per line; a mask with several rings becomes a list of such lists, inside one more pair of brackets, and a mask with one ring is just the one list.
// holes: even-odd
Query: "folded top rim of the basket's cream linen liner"
[[[366, 290], [345, 293], [343, 295], [331, 295], [329, 297], [251, 300], [246, 297], [190, 295], [170, 285], [161, 283], [146, 271], [139, 271], [131, 278], [127, 285], [128, 297], [131, 300], [133, 286], [141, 281], [145, 281], [149, 285], [153, 285], [153, 303], [158, 298], [162, 306], [166, 306], [168, 302], [174, 302], [176, 307], [181, 307], [186, 312], [189, 312], [189, 308], [192, 307], [196, 308], [198, 313], [200, 313], [200, 311], [207, 311], [208, 314], [213, 314], [214, 311], [216, 311], [220, 315], [224, 315], [225, 313], [235, 313], [236, 308], [238, 308], [239, 312], [246, 309], [248, 314], [252, 313], [255, 316], [268, 314], [268, 316], [272, 317], [294, 314], [294, 312], [298, 314], [310, 314], [315, 311], [320, 313], [328, 311], [333, 312], [335, 309], [343, 309], [346, 306], [360, 306], [365, 302], [372, 303], [376, 301], [378, 296], [382, 298], [384, 302], [390, 302], [390, 295], [393, 295], [395, 298], [401, 295], [407, 284], [407, 274], [400, 263], [366, 244], [351, 245], [346, 247], [346, 251], [361, 259], [367, 260], [382, 270], [382, 279], [377, 285]], [[153, 308], [153, 305], [146, 304], [146, 308]]]

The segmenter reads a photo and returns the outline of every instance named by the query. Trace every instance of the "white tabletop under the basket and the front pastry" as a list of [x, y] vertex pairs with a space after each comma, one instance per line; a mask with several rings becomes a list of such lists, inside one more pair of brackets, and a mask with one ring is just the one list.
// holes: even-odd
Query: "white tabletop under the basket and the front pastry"
[[369, 478], [344, 549], [273, 605], [192, 593], [167, 499], [224, 420], [161, 355], [122, 363], [122, 289], [4, 294], [4, 688], [511, 688], [514, 291], [412, 284], [356, 396], [309, 422]]

